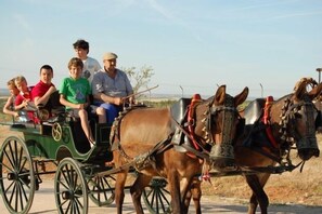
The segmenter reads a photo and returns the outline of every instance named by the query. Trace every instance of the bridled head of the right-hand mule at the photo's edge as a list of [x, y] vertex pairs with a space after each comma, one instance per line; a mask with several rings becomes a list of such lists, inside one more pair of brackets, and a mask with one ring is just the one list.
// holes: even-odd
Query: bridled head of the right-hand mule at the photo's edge
[[314, 84], [310, 92], [307, 91], [311, 84], [309, 79], [299, 81], [295, 91], [284, 101], [284, 107], [281, 115], [281, 134], [284, 146], [288, 143], [296, 143], [298, 156], [302, 160], [311, 157], [319, 157], [315, 137], [315, 118], [318, 110], [312, 101], [321, 93], [322, 83]]

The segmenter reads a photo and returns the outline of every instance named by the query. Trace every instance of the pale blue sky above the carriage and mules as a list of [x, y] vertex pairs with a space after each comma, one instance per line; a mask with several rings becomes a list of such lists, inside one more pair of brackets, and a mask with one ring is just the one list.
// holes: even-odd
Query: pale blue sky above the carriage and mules
[[0, 88], [37, 83], [43, 64], [59, 86], [79, 38], [100, 63], [151, 66], [153, 93], [279, 97], [322, 67], [321, 0], [1, 0], [0, 13]]

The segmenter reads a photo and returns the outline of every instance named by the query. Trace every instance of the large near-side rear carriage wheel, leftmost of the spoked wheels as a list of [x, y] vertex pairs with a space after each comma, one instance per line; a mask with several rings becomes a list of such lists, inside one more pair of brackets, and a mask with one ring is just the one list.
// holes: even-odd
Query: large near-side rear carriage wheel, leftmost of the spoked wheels
[[23, 139], [10, 136], [0, 149], [0, 192], [10, 213], [25, 214], [35, 195], [33, 159]]

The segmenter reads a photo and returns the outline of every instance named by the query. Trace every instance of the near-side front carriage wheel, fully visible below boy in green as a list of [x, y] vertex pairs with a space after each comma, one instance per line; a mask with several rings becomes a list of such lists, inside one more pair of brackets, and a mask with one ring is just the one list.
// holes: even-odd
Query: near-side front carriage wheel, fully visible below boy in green
[[88, 195], [79, 163], [63, 159], [55, 174], [55, 200], [59, 213], [88, 213]]

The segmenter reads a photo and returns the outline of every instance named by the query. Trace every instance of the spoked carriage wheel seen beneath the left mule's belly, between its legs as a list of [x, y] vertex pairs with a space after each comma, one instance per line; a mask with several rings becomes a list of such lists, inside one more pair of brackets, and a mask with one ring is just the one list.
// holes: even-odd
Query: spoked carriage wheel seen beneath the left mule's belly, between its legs
[[167, 182], [153, 178], [143, 190], [144, 203], [152, 214], [170, 213], [170, 192], [166, 189]]

